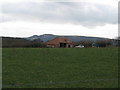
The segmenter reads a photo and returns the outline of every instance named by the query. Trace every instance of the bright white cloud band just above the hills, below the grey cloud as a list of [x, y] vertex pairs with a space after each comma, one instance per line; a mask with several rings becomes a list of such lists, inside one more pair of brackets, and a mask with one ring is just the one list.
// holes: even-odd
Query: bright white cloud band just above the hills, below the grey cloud
[[[7, 26], [7, 27], [6, 27]], [[114, 38], [118, 36], [118, 27], [114, 24], [107, 24], [103, 27], [97, 26], [88, 29], [80, 25], [73, 24], [51, 24], [32, 22], [7, 22], [0, 24], [0, 36], [27, 37], [41, 34], [57, 35], [80, 35]]]

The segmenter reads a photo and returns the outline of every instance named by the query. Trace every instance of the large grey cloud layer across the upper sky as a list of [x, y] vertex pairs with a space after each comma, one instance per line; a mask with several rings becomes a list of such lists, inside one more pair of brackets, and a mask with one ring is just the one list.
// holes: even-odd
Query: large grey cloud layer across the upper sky
[[83, 26], [117, 24], [113, 7], [80, 2], [44, 2], [3, 4], [2, 13], [11, 18], [50, 23], [72, 23]]

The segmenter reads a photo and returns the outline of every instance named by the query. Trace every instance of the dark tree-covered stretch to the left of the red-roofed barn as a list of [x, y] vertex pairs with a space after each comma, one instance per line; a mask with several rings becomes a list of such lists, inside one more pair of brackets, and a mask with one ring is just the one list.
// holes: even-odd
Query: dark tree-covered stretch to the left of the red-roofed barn
[[12, 38], [12, 37], [2, 37], [2, 47], [11, 48], [11, 47], [46, 47], [45, 43], [38, 40], [26, 40], [24, 38]]

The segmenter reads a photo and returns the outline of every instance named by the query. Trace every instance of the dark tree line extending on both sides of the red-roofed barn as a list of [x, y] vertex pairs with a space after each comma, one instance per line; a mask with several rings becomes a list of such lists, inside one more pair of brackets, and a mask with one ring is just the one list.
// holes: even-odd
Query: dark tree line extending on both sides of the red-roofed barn
[[[84, 45], [84, 47], [120, 47], [119, 39], [107, 39], [107, 40], [82, 40], [78, 42], [73, 42], [74, 47], [77, 45]], [[2, 47], [11, 48], [11, 47], [25, 47], [25, 48], [47, 48], [47, 45], [42, 40], [26, 40], [24, 38], [13, 38], [13, 37], [2, 37]]]

